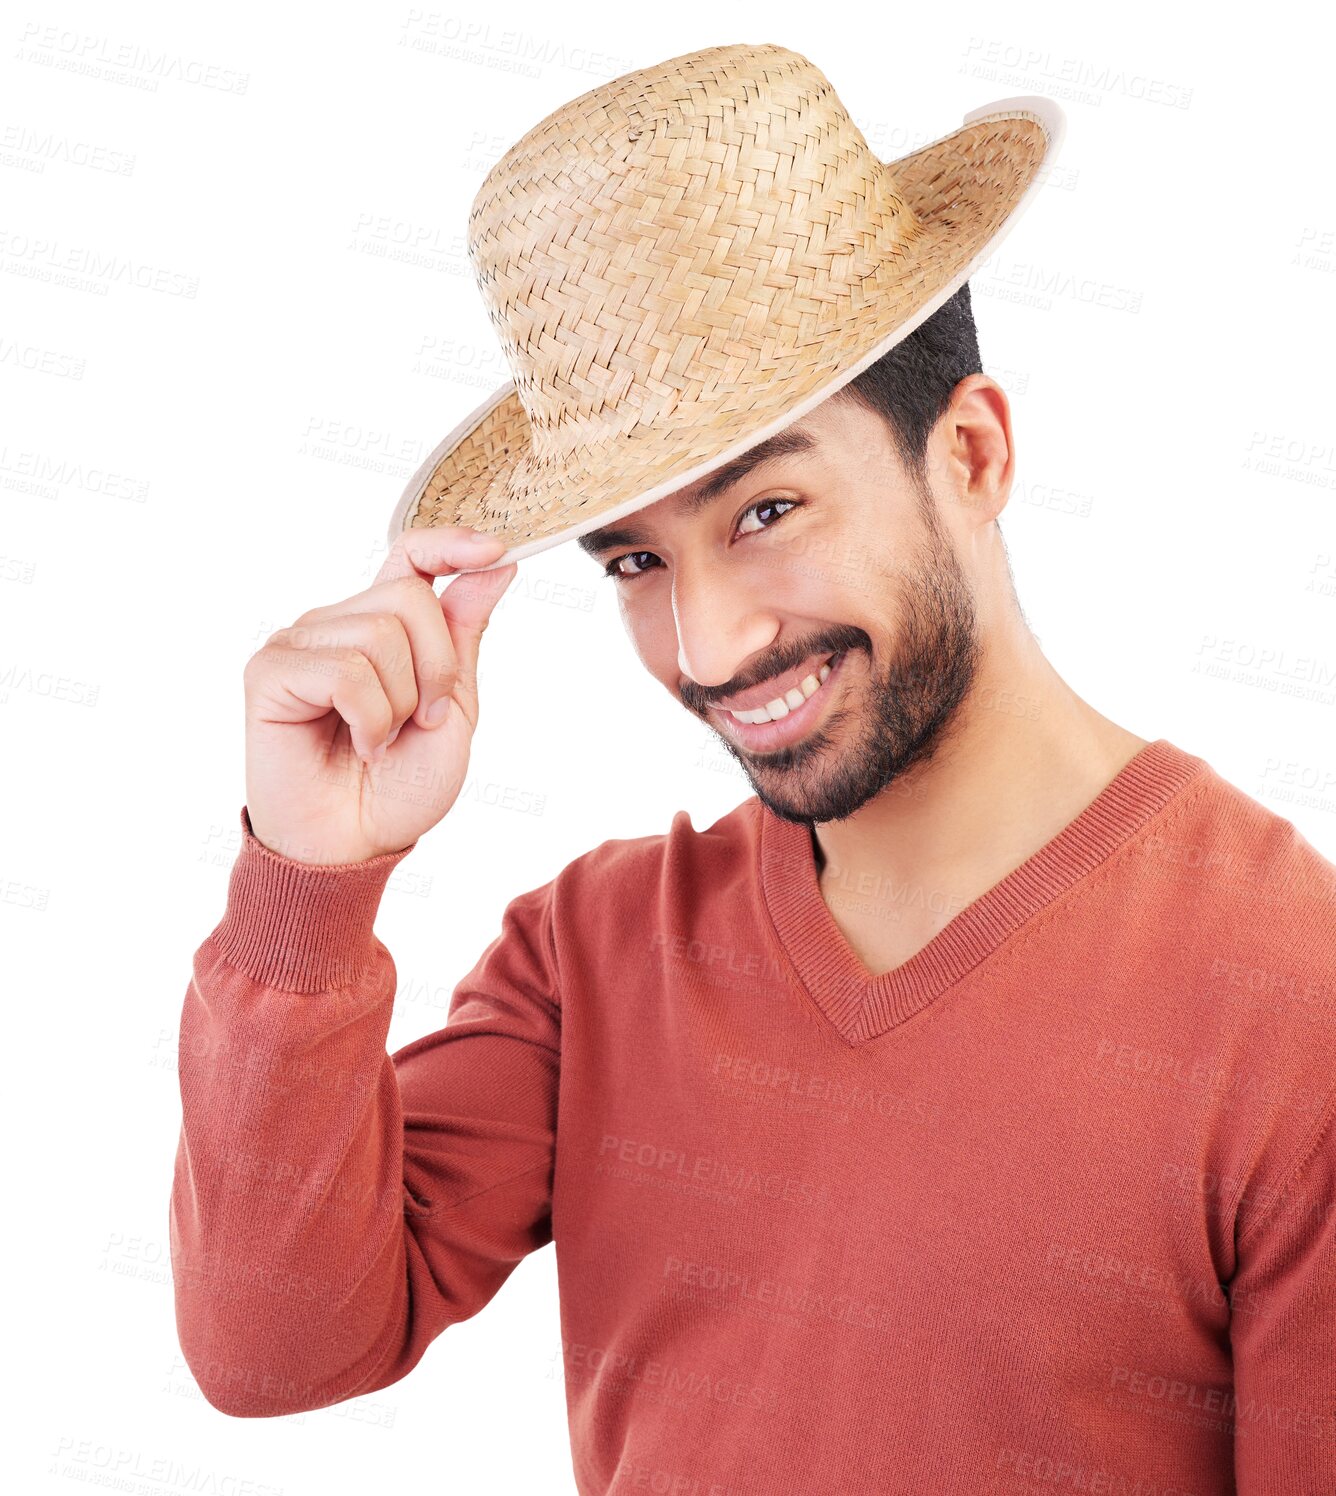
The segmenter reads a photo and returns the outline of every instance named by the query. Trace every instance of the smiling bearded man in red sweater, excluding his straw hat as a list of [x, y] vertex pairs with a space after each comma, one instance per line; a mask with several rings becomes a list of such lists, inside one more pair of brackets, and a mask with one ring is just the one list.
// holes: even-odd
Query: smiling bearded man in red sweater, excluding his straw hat
[[373, 920], [503, 539], [437, 600], [461, 533], [408, 530], [254, 657], [171, 1212], [214, 1406], [384, 1388], [555, 1242], [582, 1493], [1336, 1489], [1336, 868], [1058, 676], [1013, 470], [962, 286], [585, 524], [754, 793], [513, 898], [392, 1056]]

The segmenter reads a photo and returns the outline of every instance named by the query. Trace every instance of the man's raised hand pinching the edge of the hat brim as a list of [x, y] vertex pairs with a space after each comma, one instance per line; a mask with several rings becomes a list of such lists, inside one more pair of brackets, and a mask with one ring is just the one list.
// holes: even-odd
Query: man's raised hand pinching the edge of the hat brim
[[477, 727], [477, 652], [518, 562], [459, 527], [407, 530], [364, 592], [313, 607], [247, 661], [245, 796], [254, 835], [298, 862], [362, 862], [414, 842], [455, 803]]

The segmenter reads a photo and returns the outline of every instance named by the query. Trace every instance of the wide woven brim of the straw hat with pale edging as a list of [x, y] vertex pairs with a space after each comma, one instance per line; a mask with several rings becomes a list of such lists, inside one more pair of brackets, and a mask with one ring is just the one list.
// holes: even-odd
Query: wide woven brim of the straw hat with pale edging
[[[1026, 121], [1037, 129], [1025, 129]], [[1020, 129], [986, 129], [995, 123], [1019, 123]], [[527, 503], [530, 495], [515, 482], [530, 471], [530, 426], [515, 383], [503, 384], [408, 479], [390, 516], [389, 543], [411, 528], [470, 525], [506, 540], [498, 560], [474, 568], [492, 570], [705, 477], [821, 404], [949, 301], [1034, 200], [1064, 135], [1061, 106], [1023, 94], [972, 109], [959, 129], [884, 163], [923, 232], [887, 263], [887, 284], [868, 287], [857, 316], [821, 337], [814, 361], [794, 359], [793, 370], [759, 381], [744, 407], [706, 407], [697, 426], [675, 420], [646, 432], [639, 444], [619, 443], [619, 465], [601, 453], [595, 465], [573, 461], [561, 473], [545, 473], [548, 492], [563, 494], [560, 503]], [[572, 501], [570, 494], [579, 498]]]

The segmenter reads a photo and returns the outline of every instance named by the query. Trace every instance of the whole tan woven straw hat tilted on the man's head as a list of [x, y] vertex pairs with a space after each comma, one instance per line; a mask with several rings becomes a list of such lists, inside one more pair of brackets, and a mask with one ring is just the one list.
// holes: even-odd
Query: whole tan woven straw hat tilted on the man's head
[[812, 63], [712, 46], [591, 88], [488, 172], [468, 257], [512, 380], [389, 527], [497, 533], [504, 565], [621, 519], [832, 395], [1016, 223], [1065, 117], [1001, 99], [881, 162]]

